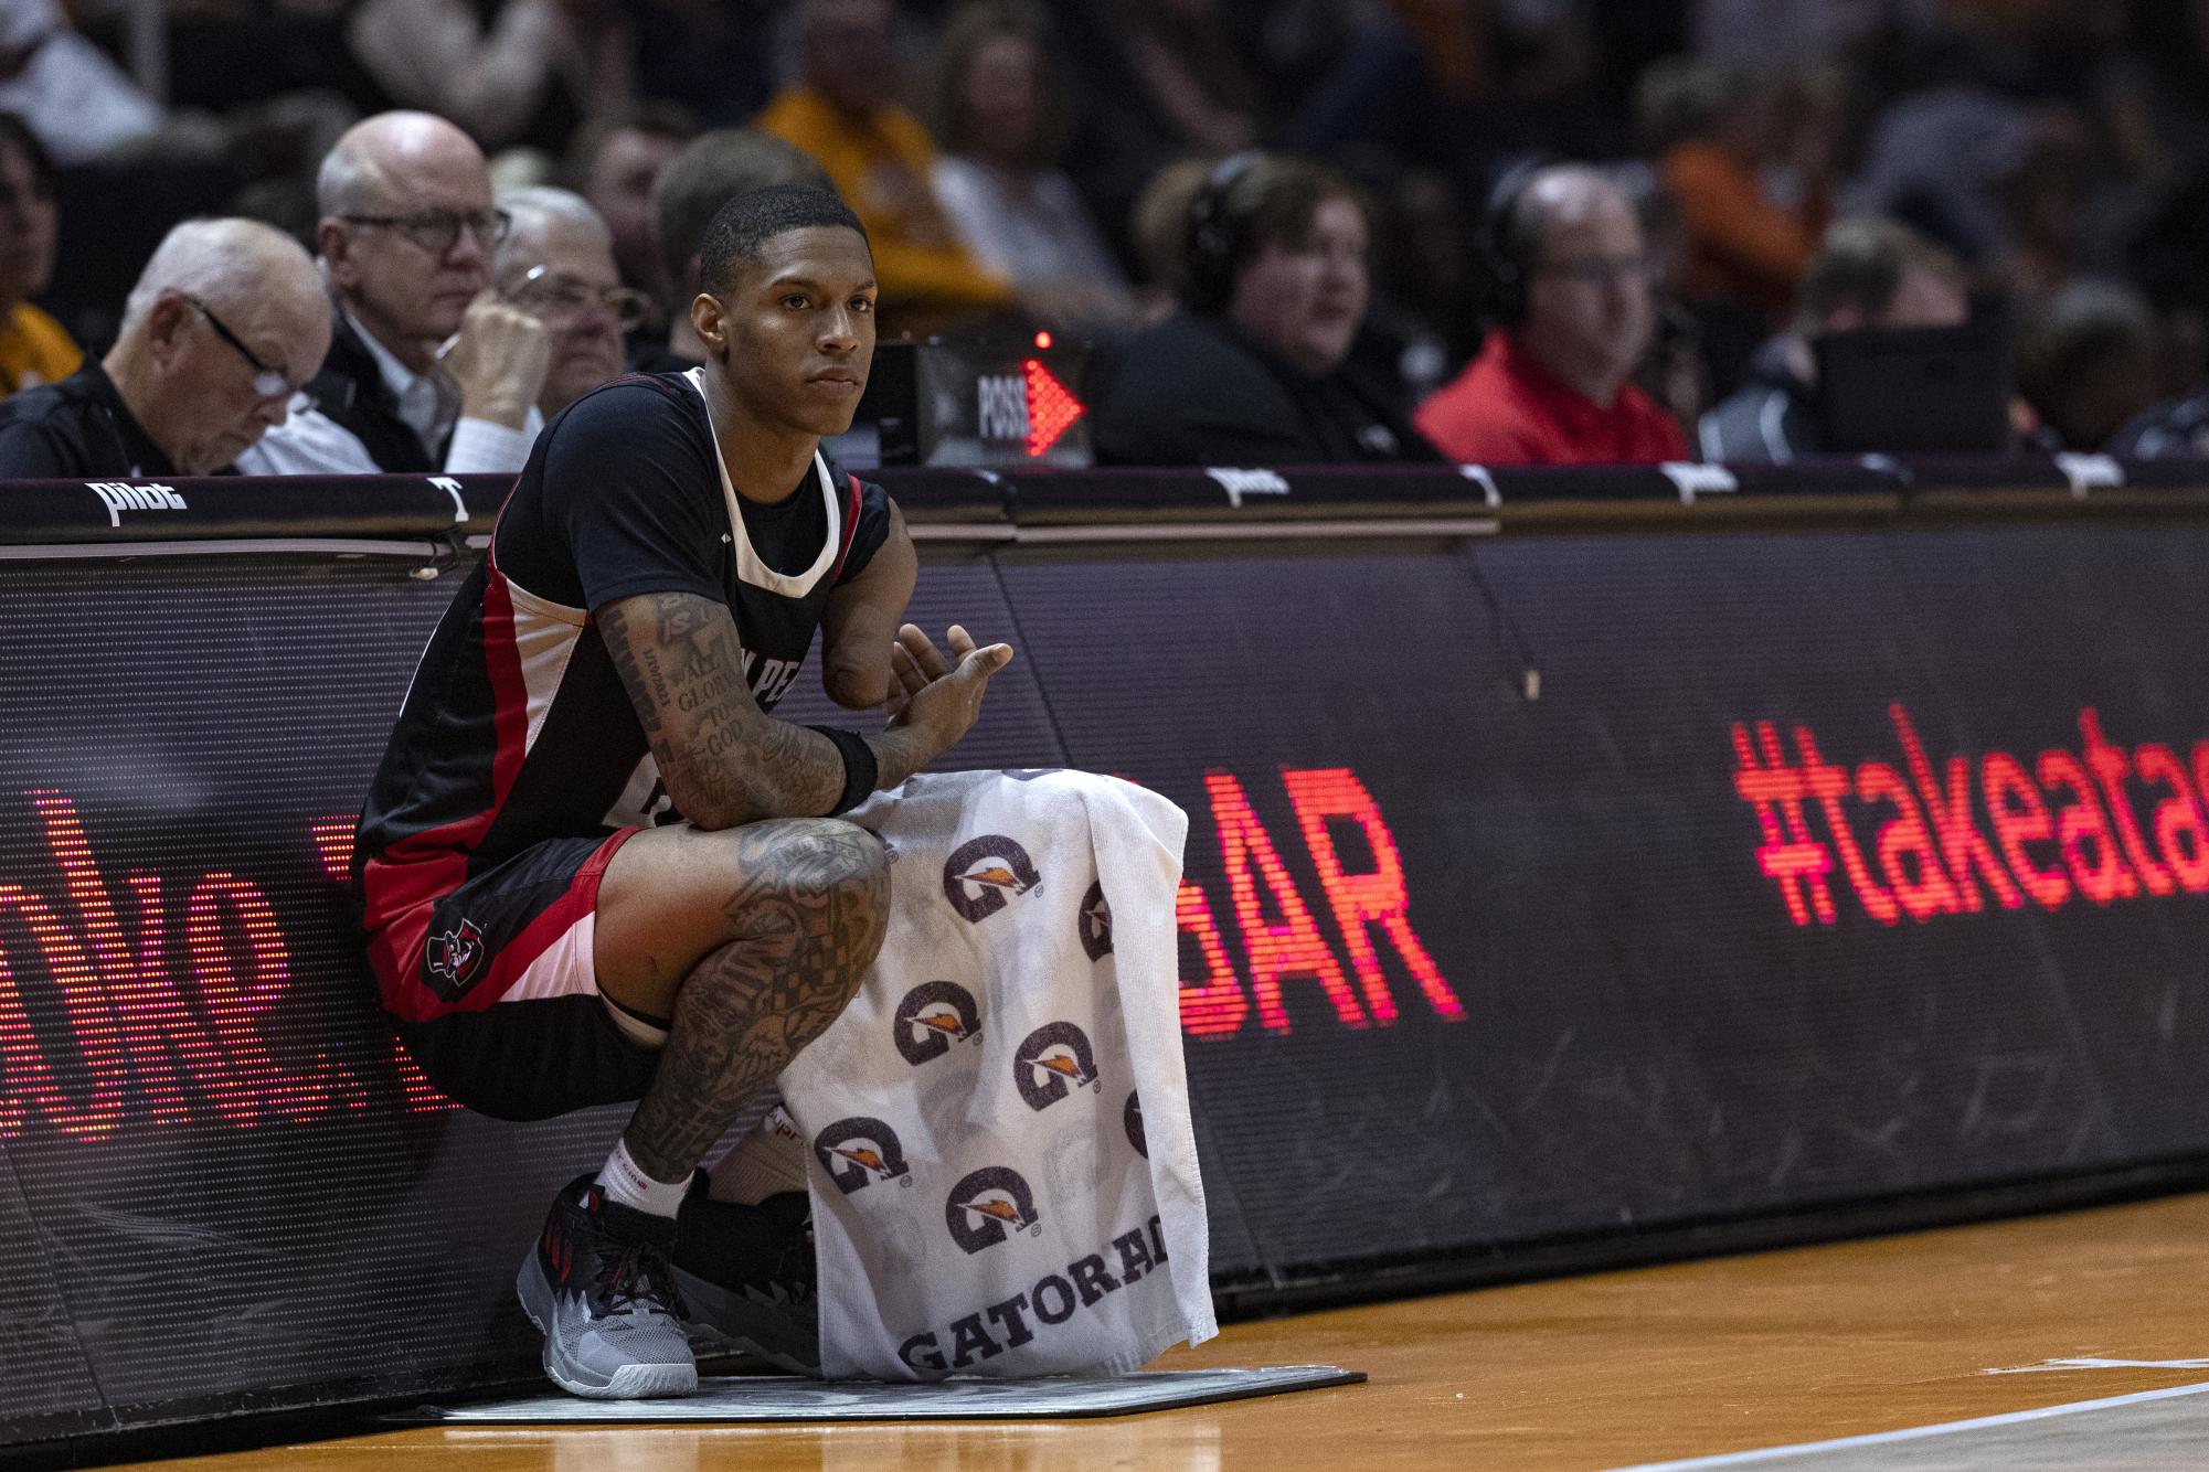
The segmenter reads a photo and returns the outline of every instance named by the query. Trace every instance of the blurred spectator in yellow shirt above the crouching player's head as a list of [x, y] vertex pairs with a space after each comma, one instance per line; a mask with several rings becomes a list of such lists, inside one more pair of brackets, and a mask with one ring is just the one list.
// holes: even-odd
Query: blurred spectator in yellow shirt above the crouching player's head
[[802, 148], [875, 245], [886, 331], [930, 331], [1010, 307], [1012, 285], [959, 245], [937, 210], [937, 148], [897, 104], [895, 0], [806, 0], [804, 79], [753, 119]]

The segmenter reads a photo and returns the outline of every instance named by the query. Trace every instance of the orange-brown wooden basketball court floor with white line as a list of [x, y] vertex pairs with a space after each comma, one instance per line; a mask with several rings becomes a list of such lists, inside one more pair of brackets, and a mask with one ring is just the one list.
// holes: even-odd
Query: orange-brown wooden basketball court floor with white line
[[137, 1465], [2209, 1468], [2209, 1194], [1235, 1324], [1160, 1368], [1224, 1364], [1372, 1382], [1098, 1421], [440, 1428]]

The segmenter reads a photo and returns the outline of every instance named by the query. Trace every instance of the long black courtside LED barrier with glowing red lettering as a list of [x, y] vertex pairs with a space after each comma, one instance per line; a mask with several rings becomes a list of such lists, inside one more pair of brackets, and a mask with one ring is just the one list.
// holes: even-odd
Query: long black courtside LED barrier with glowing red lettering
[[[1191, 812], [1226, 1309], [2205, 1176], [2209, 466], [884, 479], [959, 761]], [[532, 1375], [621, 1112], [448, 1108], [336, 881], [501, 490], [7, 488], [0, 1448]]]

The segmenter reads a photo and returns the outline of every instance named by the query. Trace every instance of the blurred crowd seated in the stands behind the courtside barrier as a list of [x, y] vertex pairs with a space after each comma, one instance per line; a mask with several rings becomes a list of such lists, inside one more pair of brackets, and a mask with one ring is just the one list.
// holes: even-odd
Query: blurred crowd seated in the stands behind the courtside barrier
[[0, 477], [515, 470], [769, 183], [886, 338], [1093, 344], [1104, 463], [1794, 459], [1966, 324], [2017, 446], [2209, 452], [2205, 0], [148, 15], [0, 4]]

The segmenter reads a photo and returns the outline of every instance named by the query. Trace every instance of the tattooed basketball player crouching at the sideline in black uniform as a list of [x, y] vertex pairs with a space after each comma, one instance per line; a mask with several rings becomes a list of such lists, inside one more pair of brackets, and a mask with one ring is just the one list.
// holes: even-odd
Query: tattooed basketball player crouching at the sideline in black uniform
[[[422, 655], [353, 861], [382, 1004], [437, 1088], [501, 1119], [638, 1101], [519, 1280], [546, 1373], [592, 1397], [694, 1390], [687, 1313], [804, 1362], [740, 1320], [804, 1298], [811, 1256], [771, 1247], [795, 1220], [716, 1201], [698, 1163], [881, 947], [881, 843], [833, 814], [959, 742], [1012, 660], [899, 627], [897, 505], [820, 455], [875, 351], [859, 221], [758, 190], [700, 256], [709, 360], [616, 380], [539, 437]], [[888, 702], [886, 728], [773, 719], [815, 627], [831, 697]]]

